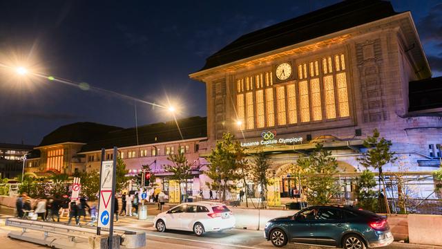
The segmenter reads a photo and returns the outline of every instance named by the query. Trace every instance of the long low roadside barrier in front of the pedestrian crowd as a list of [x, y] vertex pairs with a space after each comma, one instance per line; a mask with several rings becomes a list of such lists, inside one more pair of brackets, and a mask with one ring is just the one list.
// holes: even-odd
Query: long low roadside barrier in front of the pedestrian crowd
[[[22, 229], [21, 233], [18, 234], [14, 231], [10, 232], [10, 234], [8, 234], [8, 237], [12, 237], [14, 239], [22, 239], [25, 241], [30, 241], [32, 243], [39, 243], [46, 246], [54, 246], [54, 239], [48, 239], [49, 234], [62, 235], [65, 237], [64, 239], [66, 239], [67, 237], [68, 241], [74, 243], [73, 246], [64, 245], [64, 248], [79, 248], [79, 246], [75, 244], [75, 238], [86, 239], [86, 241], [83, 241], [84, 243], [88, 243], [88, 246], [86, 248], [99, 248], [96, 247], [96, 245], [93, 245], [93, 241], [97, 240], [96, 244], [100, 244], [100, 240], [107, 240], [108, 238], [108, 230], [102, 229], [102, 235], [97, 235], [96, 227], [71, 226], [61, 223], [30, 221], [17, 218], [6, 219], [5, 225], [10, 225]], [[27, 237], [26, 232], [28, 232], [28, 230], [43, 232], [43, 238], [35, 239], [32, 237]], [[117, 239], [117, 245], [121, 244], [125, 248], [140, 248], [146, 246], [146, 233], [142, 231], [127, 230], [125, 228], [114, 228], [114, 236], [119, 238]]]

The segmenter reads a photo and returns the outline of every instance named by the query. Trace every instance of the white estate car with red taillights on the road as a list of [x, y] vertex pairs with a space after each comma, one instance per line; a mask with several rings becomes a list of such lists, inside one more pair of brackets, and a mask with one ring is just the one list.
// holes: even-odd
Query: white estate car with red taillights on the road
[[204, 232], [231, 229], [235, 222], [235, 216], [226, 205], [209, 201], [182, 203], [153, 219], [159, 232], [166, 229], [184, 230], [193, 231], [196, 236], [202, 236]]

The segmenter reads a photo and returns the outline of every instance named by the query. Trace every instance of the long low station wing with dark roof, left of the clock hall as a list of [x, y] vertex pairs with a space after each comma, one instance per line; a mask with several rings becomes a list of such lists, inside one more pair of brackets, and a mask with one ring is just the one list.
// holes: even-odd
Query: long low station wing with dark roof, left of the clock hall
[[[142, 171], [142, 165], [150, 165], [157, 184], [167, 192], [170, 174], [164, 172], [163, 166], [171, 163], [167, 160], [169, 154], [183, 151], [193, 165], [193, 177], [188, 180], [189, 192], [199, 193], [201, 168], [206, 165], [206, 160], [199, 156], [200, 150], [206, 149], [206, 118], [184, 118], [177, 123], [180, 130], [175, 121], [137, 129], [90, 122], [68, 124], [52, 131], [35, 147], [30, 159], [26, 160], [26, 172], [42, 176], [99, 171], [102, 159], [112, 160], [116, 146], [129, 174], [135, 176]], [[101, 149], [106, 149], [105, 158], [101, 158]]]

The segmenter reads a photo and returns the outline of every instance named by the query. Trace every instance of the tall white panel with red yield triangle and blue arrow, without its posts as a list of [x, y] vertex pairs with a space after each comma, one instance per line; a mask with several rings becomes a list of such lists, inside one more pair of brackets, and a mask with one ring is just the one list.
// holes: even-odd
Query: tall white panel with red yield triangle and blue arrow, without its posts
[[102, 169], [100, 171], [100, 190], [99, 190], [99, 210], [98, 210], [98, 227], [110, 228], [111, 219], [113, 219], [112, 200], [113, 200], [113, 185], [115, 178], [115, 165], [113, 160], [106, 160], [102, 162]]

